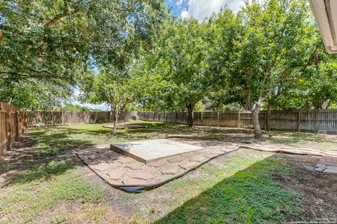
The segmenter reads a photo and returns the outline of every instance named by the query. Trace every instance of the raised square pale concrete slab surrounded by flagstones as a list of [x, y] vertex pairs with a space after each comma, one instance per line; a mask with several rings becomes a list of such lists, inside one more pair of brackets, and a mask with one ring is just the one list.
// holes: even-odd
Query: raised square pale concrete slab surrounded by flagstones
[[[126, 155], [139, 162], [148, 164], [157, 160], [190, 153], [202, 149], [201, 146], [185, 144], [168, 139], [154, 139], [145, 141], [130, 141], [126, 143], [111, 144], [110, 148], [121, 155]], [[177, 158], [178, 160], [184, 160]], [[171, 162], [171, 161], [170, 161]]]

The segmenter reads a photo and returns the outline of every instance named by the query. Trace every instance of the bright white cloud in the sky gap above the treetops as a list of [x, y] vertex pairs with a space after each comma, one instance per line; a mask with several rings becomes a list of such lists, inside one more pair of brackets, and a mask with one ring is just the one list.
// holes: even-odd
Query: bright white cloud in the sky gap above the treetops
[[[181, 4], [183, 0], [177, 1]], [[190, 0], [188, 1], [188, 9], [183, 10], [180, 15], [183, 18], [196, 18], [199, 21], [209, 17], [214, 12], [218, 12], [222, 6], [228, 5], [234, 13], [237, 13], [242, 5], [242, 0]]]

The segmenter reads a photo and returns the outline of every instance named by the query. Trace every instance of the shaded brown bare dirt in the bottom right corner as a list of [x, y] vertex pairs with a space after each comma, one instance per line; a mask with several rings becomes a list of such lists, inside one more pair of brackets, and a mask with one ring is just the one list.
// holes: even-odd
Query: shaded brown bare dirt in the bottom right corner
[[[319, 157], [277, 154], [286, 159], [285, 167], [291, 168], [290, 176], [277, 176], [284, 188], [302, 195], [300, 217], [304, 221], [315, 218], [334, 219], [337, 223], [337, 175], [315, 172]], [[289, 218], [287, 221], [298, 221]]]

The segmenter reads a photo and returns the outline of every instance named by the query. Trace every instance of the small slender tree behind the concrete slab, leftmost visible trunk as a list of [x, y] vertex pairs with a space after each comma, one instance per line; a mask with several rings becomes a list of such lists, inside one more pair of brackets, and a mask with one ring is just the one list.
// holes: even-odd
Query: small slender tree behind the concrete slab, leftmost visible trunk
[[121, 112], [126, 106], [146, 97], [147, 87], [151, 85], [149, 77], [138, 71], [136, 65], [131, 68], [121, 70], [115, 66], [101, 67], [100, 73], [88, 73], [81, 80], [80, 99], [83, 102], [110, 105], [113, 135], [116, 135]]

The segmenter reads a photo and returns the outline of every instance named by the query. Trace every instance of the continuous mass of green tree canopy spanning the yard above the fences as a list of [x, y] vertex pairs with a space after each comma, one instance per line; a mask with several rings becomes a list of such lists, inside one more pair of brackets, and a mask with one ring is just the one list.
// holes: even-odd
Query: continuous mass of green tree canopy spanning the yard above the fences
[[203, 22], [163, 1], [1, 1], [1, 101], [52, 109], [79, 87], [116, 122], [136, 106], [188, 111], [190, 127], [195, 109], [249, 110], [256, 137], [261, 109], [336, 106], [337, 57], [306, 0], [244, 0]]

